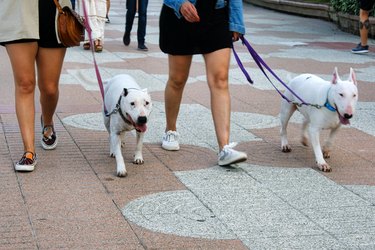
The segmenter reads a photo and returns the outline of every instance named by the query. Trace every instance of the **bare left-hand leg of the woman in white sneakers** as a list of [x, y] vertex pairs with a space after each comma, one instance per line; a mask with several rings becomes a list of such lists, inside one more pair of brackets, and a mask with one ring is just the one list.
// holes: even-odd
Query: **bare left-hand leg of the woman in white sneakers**
[[164, 91], [166, 130], [176, 131], [176, 121], [182, 93], [189, 77], [190, 65], [193, 56], [168, 55], [169, 78]]

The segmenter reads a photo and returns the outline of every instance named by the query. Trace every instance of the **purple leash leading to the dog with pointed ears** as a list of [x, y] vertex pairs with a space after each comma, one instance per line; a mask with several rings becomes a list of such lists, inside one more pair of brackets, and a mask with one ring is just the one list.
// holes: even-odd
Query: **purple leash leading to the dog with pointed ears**
[[[258, 55], [258, 53], [253, 49], [253, 47], [251, 47], [250, 43], [246, 40], [246, 38], [241, 35], [240, 36], [240, 39], [242, 41], [242, 44], [246, 46], [247, 50], [249, 51], [251, 57], [254, 59], [254, 62], [258, 65], [259, 69], [263, 72], [263, 74], [266, 76], [266, 78], [268, 79], [268, 81], [272, 84], [272, 86], [275, 88], [275, 90], [279, 93], [279, 95], [284, 98], [287, 102], [289, 103], [293, 103], [299, 107], [301, 107], [302, 105], [308, 105], [308, 106], [313, 106], [315, 108], [322, 108], [324, 106], [330, 106], [332, 107], [329, 102], [328, 102], [328, 99], [326, 101], [326, 103], [324, 105], [317, 105], [317, 104], [311, 104], [311, 103], [307, 103], [305, 102], [301, 97], [299, 97], [291, 88], [288, 87], [287, 84], [285, 84], [276, 74], [275, 72], [272, 71], [272, 69], [265, 63], [265, 61]], [[250, 84], [253, 84], [254, 81], [251, 79], [249, 73], [246, 71], [245, 67], [243, 66], [236, 50], [234, 49], [234, 45], [232, 46], [232, 50], [233, 50], [233, 54], [234, 54], [234, 57], [237, 61], [237, 64], [238, 66], [240, 67], [242, 73], [245, 75], [247, 81], [250, 83]], [[263, 66], [262, 66], [263, 65]], [[300, 100], [301, 102], [292, 102], [291, 100], [289, 100], [277, 87], [276, 85], [271, 81], [271, 79], [268, 77], [266, 71], [264, 70], [264, 68], [268, 70], [269, 73], [271, 73], [286, 89], [288, 89], [292, 95], [294, 95], [298, 100]], [[333, 108], [333, 107], [332, 107]]]

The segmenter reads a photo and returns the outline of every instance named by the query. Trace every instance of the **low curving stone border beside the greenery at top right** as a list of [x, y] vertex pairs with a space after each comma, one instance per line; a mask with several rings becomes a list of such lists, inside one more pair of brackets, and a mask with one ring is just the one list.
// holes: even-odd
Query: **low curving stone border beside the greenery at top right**
[[[244, 2], [276, 11], [331, 21], [334, 22], [340, 30], [359, 35], [358, 16], [341, 12], [338, 13], [326, 4], [288, 0], [244, 0]], [[375, 26], [375, 18], [370, 17], [369, 21], [370, 30], [368, 37], [375, 39], [375, 28], [371, 28]]]

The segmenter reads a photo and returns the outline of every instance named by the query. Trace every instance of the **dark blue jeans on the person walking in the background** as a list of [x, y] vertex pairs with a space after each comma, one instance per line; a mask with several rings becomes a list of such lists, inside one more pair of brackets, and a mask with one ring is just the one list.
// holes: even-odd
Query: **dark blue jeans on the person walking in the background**
[[[126, 0], [126, 23], [125, 34], [130, 35], [133, 27], [134, 17], [136, 13], [137, 0]], [[138, 45], [144, 45], [147, 25], [147, 5], [148, 0], [138, 0]]]

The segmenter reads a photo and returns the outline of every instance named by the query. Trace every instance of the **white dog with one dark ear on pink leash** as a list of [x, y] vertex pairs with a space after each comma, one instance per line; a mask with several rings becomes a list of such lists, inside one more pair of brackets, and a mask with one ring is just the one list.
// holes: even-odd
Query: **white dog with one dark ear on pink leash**
[[143, 164], [143, 137], [152, 108], [151, 97], [131, 76], [117, 75], [105, 85], [103, 108], [104, 125], [109, 133], [110, 155], [116, 158], [117, 176], [125, 177], [127, 172], [121, 153], [125, 132], [136, 130], [133, 163]]

